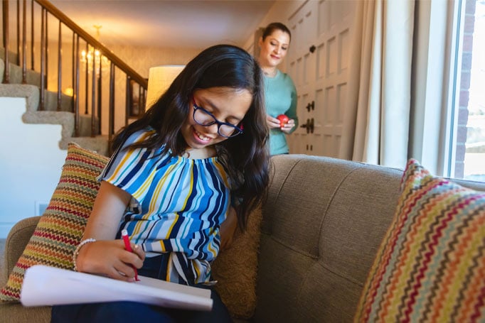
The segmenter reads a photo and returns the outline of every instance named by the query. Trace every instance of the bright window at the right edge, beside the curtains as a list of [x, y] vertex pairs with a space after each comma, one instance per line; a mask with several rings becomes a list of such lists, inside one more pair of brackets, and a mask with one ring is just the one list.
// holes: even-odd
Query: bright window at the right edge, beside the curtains
[[[454, 92], [454, 171], [449, 175], [485, 182], [485, 0], [463, 0], [462, 33]], [[458, 13], [460, 14], [460, 13]]]

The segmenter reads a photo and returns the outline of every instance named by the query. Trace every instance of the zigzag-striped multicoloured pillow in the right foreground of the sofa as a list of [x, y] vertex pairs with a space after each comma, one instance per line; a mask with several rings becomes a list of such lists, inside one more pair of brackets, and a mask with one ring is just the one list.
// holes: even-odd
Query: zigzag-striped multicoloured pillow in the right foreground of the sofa
[[485, 192], [407, 163], [354, 322], [485, 322]]

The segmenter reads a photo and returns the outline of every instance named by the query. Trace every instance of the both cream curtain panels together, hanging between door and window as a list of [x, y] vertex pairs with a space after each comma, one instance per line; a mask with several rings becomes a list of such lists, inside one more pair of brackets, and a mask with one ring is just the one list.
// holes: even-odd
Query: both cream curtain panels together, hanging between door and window
[[357, 1], [340, 158], [442, 168], [454, 2]]

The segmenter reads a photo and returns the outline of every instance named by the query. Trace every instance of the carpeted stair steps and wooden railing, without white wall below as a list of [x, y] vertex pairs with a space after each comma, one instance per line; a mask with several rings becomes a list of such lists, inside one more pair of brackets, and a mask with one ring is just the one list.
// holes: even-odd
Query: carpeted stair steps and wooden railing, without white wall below
[[[114, 133], [143, 114], [148, 81], [49, 1], [1, 4], [0, 97], [26, 98], [26, 124], [60, 124], [61, 149], [75, 142], [110, 155]], [[82, 60], [88, 48], [100, 53], [105, 67]], [[65, 87], [72, 96], [61, 91]]]

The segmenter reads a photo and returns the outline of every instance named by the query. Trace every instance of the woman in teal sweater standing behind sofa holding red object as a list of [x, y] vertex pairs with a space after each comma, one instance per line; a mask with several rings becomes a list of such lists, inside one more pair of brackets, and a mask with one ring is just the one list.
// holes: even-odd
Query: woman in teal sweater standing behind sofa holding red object
[[[287, 26], [270, 23], [259, 40], [258, 62], [264, 72], [266, 121], [270, 128], [270, 155], [289, 153], [286, 135], [298, 126], [297, 89], [292, 78], [278, 70], [277, 66], [288, 53], [292, 39]], [[288, 120], [280, 121], [277, 116], [286, 115]]]

